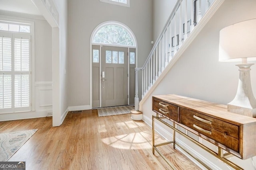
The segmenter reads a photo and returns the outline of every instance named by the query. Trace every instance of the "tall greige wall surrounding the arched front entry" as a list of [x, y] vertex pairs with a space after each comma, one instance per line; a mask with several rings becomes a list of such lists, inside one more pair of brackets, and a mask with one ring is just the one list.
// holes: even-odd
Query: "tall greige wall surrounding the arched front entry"
[[99, 0], [68, 1], [68, 105], [90, 105], [90, 37], [105, 21], [127, 25], [138, 43], [138, 66], [152, 48], [152, 0], [131, 0], [130, 8]]

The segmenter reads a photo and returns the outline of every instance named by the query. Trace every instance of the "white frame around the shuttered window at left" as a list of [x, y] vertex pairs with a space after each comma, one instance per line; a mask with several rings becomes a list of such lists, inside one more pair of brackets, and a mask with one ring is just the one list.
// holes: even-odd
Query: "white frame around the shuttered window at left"
[[[20, 112], [31, 112], [35, 111], [35, 66], [34, 66], [34, 57], [35, 57], [35, 40], [34, 40], [34, 21], [25, 21], [25, 20], [15, 20], [15, 19], [6, 19], [6, 18], [0, 18], [0, 22], [2, 23], [9, 23], [9, 24], [20, 24], [20, 25], [30, 25], [30, 33], [26, 32], [17, 32], [17, 31], [5, 31], [5, 30], [0, 30], [2, 33], [10, 33], [12, 35], [26, 35], [30, 36], [30, 106], [28, 110], [24, 109], [15, 109], [15, 107], [12, 107], [10, 109], [0, 109], [1, 113], [0, 114], [5, 114], [5, 113], [20, 113]], [[15, 36], [13, 36], [15, 37]], [[14, 38], [12, 38], [12, 41], [14, 41]], [[12, 42], [14, 43], [14, 42]], [[12, 48], [14, 47], [14, 44], [12, 44]], [[12, 54], [12, 57], [14, 57], [14, 54]], [[14, 103], [12, 104], [14, 106]], [[22, 108], [22, 107], [16, 107], [16, 108]]]

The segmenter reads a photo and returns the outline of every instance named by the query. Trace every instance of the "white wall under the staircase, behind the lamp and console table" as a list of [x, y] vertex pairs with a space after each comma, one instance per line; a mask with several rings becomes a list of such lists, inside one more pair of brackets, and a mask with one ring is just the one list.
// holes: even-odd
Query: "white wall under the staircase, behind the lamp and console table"
[[[230, 102], [236, 95], [239, 71], [235, 63], [218, 62], [219, 31], [233, 23], [256, 18], [255, 8], [256, 1], [254, 0], [224, 1], [151, 96], [178, 94], [220, 104]], [[255, 96], [256, 65], [251, 67], [251, 82]], [[151, 110], [151, 96], [141, 108], [144, 114], [143, 119], [149, 124], [151, 124], [151, 117], [154, 114]], [[204, 152], [201, 154], [204, 158], [211, 160], [212, 164], [218, 165], [220, 169], [227, 169], [213, 156]], [[251, 159], [240, 161], [233, 157], [231, 160], [235, 160], [246, 170], [254, 169]]]

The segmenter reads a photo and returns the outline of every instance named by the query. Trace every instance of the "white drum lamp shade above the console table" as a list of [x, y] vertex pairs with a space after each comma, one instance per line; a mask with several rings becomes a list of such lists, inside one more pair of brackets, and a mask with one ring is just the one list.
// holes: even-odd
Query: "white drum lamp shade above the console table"
[[219, 61], [256, 61], [256, 19], [220, 30]]

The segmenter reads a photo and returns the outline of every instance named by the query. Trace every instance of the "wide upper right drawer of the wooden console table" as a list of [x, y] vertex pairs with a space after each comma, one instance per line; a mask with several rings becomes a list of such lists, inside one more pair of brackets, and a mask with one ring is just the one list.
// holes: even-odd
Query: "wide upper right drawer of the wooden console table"
[[217, 131], [220, 131], [224, 133], [225, 135], [234, 137], [236, 139], [239, 139], [239, 126], [216, 119], [214, 117], [210, 117], [207, 115], [204, 115], [202, 113], [198, 113], [189, 109], [185, 109], [180, 107], [180, 119], [181, 123], [185, 119], [190, 119], [192, 121], [196, 121], [198, 123], [201, 123], [202, 125], [208, 126], [212, 129], [215, 129]]

